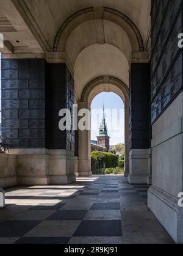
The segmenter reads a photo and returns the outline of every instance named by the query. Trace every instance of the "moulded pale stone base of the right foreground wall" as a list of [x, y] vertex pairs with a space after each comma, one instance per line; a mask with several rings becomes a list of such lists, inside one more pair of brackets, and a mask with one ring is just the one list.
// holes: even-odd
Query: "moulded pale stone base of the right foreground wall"
[[151, 186], [148, 190], [148, 207], [173, 240], [183, 243], [183, 207], [178, 206], [178, 199]]

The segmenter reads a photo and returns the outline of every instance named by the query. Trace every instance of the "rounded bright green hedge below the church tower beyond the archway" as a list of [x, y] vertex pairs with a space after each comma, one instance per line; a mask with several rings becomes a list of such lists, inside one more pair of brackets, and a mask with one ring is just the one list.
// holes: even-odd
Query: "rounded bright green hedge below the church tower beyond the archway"
[[93, 163], [99, 163], [104, 161], [106, 168], [112, 168], [118, 166], [118, 156], [112, 153], [106, 152], [91, 152], [91, 161]]

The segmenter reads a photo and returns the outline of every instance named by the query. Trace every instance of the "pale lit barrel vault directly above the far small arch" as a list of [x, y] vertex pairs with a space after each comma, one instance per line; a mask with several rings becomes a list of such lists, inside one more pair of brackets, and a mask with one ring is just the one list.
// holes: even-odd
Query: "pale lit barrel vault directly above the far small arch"
[[[112, 77], [129, 85], [129, 63], [126, 56], [113, 45], [91, 45], [85, 48], [74, 64], [75, 96], [82, 98], [85, 86], [93, 79]], [[106, 83], [106, 82], [102, 82]]]

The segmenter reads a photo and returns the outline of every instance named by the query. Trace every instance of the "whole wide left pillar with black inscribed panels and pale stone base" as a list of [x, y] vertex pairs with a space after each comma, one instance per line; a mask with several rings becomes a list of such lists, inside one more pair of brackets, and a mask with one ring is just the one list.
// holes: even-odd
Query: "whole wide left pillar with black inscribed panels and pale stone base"
[[2, 134], [16, 155], [18, 185], [70, 183], [74, 134], [59, 130], [59, 111], [72, 108], [74, 82], [65, 64], [2, 59]]

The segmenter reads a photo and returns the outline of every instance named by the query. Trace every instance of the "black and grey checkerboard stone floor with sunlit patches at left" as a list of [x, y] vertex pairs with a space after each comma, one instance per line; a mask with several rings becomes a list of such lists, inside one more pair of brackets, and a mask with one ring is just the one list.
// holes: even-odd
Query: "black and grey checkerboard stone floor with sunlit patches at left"
[[148, 210], [147, 191], [118, 175], [6, 189], [0, 243], [172, 243]]

